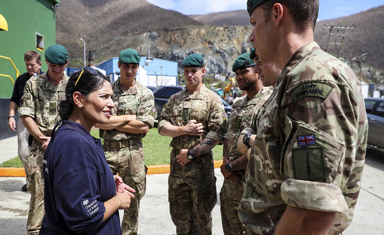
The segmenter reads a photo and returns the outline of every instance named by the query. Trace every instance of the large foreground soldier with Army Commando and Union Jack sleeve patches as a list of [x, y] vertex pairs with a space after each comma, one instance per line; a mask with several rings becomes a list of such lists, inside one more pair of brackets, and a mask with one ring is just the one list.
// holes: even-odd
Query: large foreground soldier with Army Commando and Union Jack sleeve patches
[[282, 72], [263, 81], [275, 87], [257, 117], [239, 217], [255, 234], [338, 235], [360, 191], [364, 100], [352, 70], [313, 41], [318, 0], [284, 2], [248, 1], [256, 54]]

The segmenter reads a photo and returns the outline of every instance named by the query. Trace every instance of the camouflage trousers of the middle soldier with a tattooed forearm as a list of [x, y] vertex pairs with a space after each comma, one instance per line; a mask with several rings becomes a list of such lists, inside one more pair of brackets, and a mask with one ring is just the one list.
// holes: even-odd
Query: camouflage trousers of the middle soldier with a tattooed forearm
[[[171, 152], [168, 201], [178, 235], [211, 235], [211, 211], [217, 202], [212, 153], [199, 156], [181, 167], [177, 151]], [[172, 164], [173, 163], [173, 164]]]

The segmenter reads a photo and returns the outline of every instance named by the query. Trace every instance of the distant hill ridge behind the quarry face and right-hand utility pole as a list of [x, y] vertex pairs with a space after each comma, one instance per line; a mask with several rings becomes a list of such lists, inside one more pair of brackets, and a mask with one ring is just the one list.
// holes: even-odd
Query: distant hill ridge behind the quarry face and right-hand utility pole
[[[207, 26], [249, 25], [246, 10], [223, 11], [206, 15], [190, 15], [190, 17]], [[356, 25], [353, 31], [347, 31], [341, 57], [351, 59], [354, 56], [368, 53], [366, 64], [384, 70], [384, 5], [371, 8], [357, 14], [316, 23], [315, 40], [320, 47], [327, 47], [328, 32], [324, 25]], [[340, 33], [340, 32], [334, 32]], [[340, 42], [340, 37], [332, 37], [331, 42]], [[335, 44], [330, 45], [329, 52], [337, 55]]]

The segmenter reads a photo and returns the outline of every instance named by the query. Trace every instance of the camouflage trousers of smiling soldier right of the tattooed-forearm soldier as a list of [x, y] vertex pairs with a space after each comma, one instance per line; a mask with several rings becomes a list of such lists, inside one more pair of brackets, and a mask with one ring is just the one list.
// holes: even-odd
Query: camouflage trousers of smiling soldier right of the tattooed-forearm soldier
[[230, 180], [224, 180], [220, 191], [220, 212], [225, 235], [247, 234], [245, 226], [241, 223], [237, 214], [241, 198], [243, 196], [243, 180], [233, 183]]

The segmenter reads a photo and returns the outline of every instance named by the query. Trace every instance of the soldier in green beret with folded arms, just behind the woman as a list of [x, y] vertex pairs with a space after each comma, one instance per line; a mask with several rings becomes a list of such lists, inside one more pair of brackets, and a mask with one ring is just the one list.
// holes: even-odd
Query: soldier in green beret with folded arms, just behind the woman
[[[146, 191], [146, 166], [141, 139], [154, 127], [156, 109], [151, 90], [136, 81], [140, 54], [126, 49], [119, 54], [120, 77], [112, 83], [115, 102], [110, 125], [96, 125], [104, 139], [104, 152], [113, 174], [136, 190], [131, 205], [124, 210], [123, 235], [137, 234], [140, 200]], [[104, 129], [104, 130], [103, 130]]]

